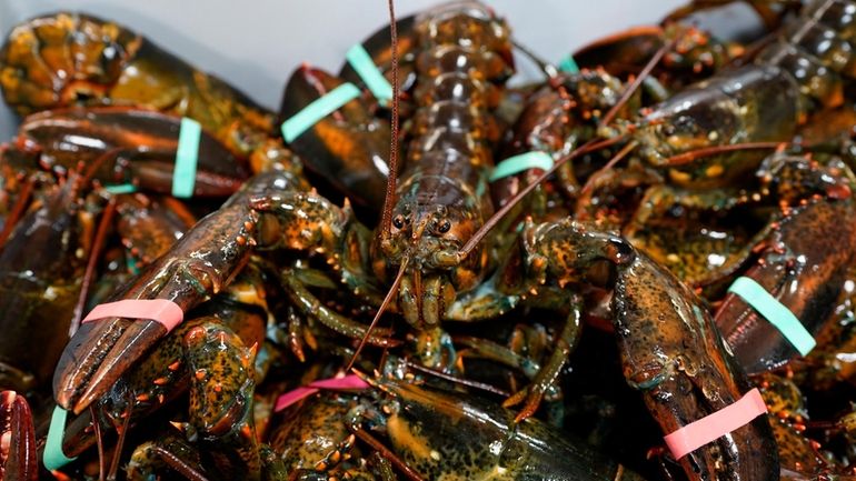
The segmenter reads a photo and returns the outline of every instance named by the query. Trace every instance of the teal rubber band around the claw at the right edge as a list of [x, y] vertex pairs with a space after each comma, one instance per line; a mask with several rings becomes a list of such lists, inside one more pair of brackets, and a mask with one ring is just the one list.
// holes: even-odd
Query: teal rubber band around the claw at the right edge
[[759, 283], [749, 278], [737, 278], [728, 292], [743, 298], [770, 324], [782, 332], [800, 355], [808, 354], [817, 342], [796, 315], [776, 298], [770, 295]]

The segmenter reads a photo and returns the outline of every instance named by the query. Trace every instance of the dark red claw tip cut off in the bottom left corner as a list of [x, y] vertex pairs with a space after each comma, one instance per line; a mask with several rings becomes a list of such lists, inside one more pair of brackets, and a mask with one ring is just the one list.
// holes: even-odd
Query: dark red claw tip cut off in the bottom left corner
[[0, 392], [0, 479], [39, 479], [32, 413], [14, 391]]

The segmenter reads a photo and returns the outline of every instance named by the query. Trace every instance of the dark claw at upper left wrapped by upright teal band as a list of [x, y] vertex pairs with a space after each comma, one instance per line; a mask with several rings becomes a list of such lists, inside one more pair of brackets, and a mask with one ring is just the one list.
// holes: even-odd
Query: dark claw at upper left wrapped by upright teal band
[[[168, 194], [182, 124], [179, 117], [145, 109], [58, 109], [23, 119], [18, 143], [38, 146], [40, 164], [60, 171], [107, 157], [94, 172], [102, 183]], [[247, 159], [232, 156], [210, 133], [200, 132], [198, 149], [195, 197], [230, 196], [249, 177]]]

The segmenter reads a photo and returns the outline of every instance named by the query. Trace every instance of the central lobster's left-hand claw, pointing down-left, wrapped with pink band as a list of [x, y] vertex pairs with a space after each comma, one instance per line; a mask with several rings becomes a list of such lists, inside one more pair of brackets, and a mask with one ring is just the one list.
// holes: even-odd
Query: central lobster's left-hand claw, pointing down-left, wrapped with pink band
[[[249, 199], [280, 193], [300, 182], [285, 171], [256, 176], [111, 301], [161, 299], [188, 312], [208, 300], [249, 260], [257, 223]], [[57, 403], [80, 414], [167, 332], [163, 324], [147, 319], [107, 318], [83, 323], [62, 352], [54, 372]]]

